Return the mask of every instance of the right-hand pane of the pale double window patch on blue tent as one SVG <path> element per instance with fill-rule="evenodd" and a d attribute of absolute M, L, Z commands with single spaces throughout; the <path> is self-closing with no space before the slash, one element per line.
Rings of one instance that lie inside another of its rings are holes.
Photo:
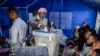
<path fill-rule="evenodd" d="M 61 29 L 71 29 L 72 12 L 61 12 Z"/>

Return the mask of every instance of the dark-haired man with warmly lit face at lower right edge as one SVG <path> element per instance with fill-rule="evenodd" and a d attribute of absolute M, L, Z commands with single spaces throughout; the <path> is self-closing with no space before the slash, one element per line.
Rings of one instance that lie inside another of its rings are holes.
<path fill-rule="evenodd" d="M 91 47 L 91 50 L 92 50 L 91 56 L 93 55 L 93 51 L 95 49 L 100 49 L 100 38 L 99 38 L 99 36 L 97 34 L 90 34 L 89 38 L 87 40 L 87 43 L 92 46 Z"/>

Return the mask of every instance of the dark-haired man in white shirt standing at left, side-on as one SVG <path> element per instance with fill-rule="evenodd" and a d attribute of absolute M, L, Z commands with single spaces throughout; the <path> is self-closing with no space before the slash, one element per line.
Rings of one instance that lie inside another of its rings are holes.
<path fill-rule="evenodd" d="M 13 21 L 9 34 L 11 37 L 12 52 L 16 52 L 21 47 L 22 39 L 26 36 L 27 24 L 18 16 L 15 7 L 8 8 L 8 16 Z"/>

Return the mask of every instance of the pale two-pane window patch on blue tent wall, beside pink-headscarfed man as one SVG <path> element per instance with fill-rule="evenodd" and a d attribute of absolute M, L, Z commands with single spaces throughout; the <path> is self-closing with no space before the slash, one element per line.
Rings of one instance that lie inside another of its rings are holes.
<path fill-rule="evenodd" d="M 71 29 L 72 12 L 50 12 L 49 21 L 54 22 L 57 28 Z"/>

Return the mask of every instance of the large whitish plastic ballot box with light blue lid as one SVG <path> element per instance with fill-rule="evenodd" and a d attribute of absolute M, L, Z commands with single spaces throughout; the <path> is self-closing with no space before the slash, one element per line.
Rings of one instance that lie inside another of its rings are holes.
<path fill-rule="evenodd" d="M 62 30 L 51 29 L 50 32 L 35 30 L 33 31 L 33 35 L 35 36 L 36 46 L 47 46 L 49 56 L 58 56 Z"/>

